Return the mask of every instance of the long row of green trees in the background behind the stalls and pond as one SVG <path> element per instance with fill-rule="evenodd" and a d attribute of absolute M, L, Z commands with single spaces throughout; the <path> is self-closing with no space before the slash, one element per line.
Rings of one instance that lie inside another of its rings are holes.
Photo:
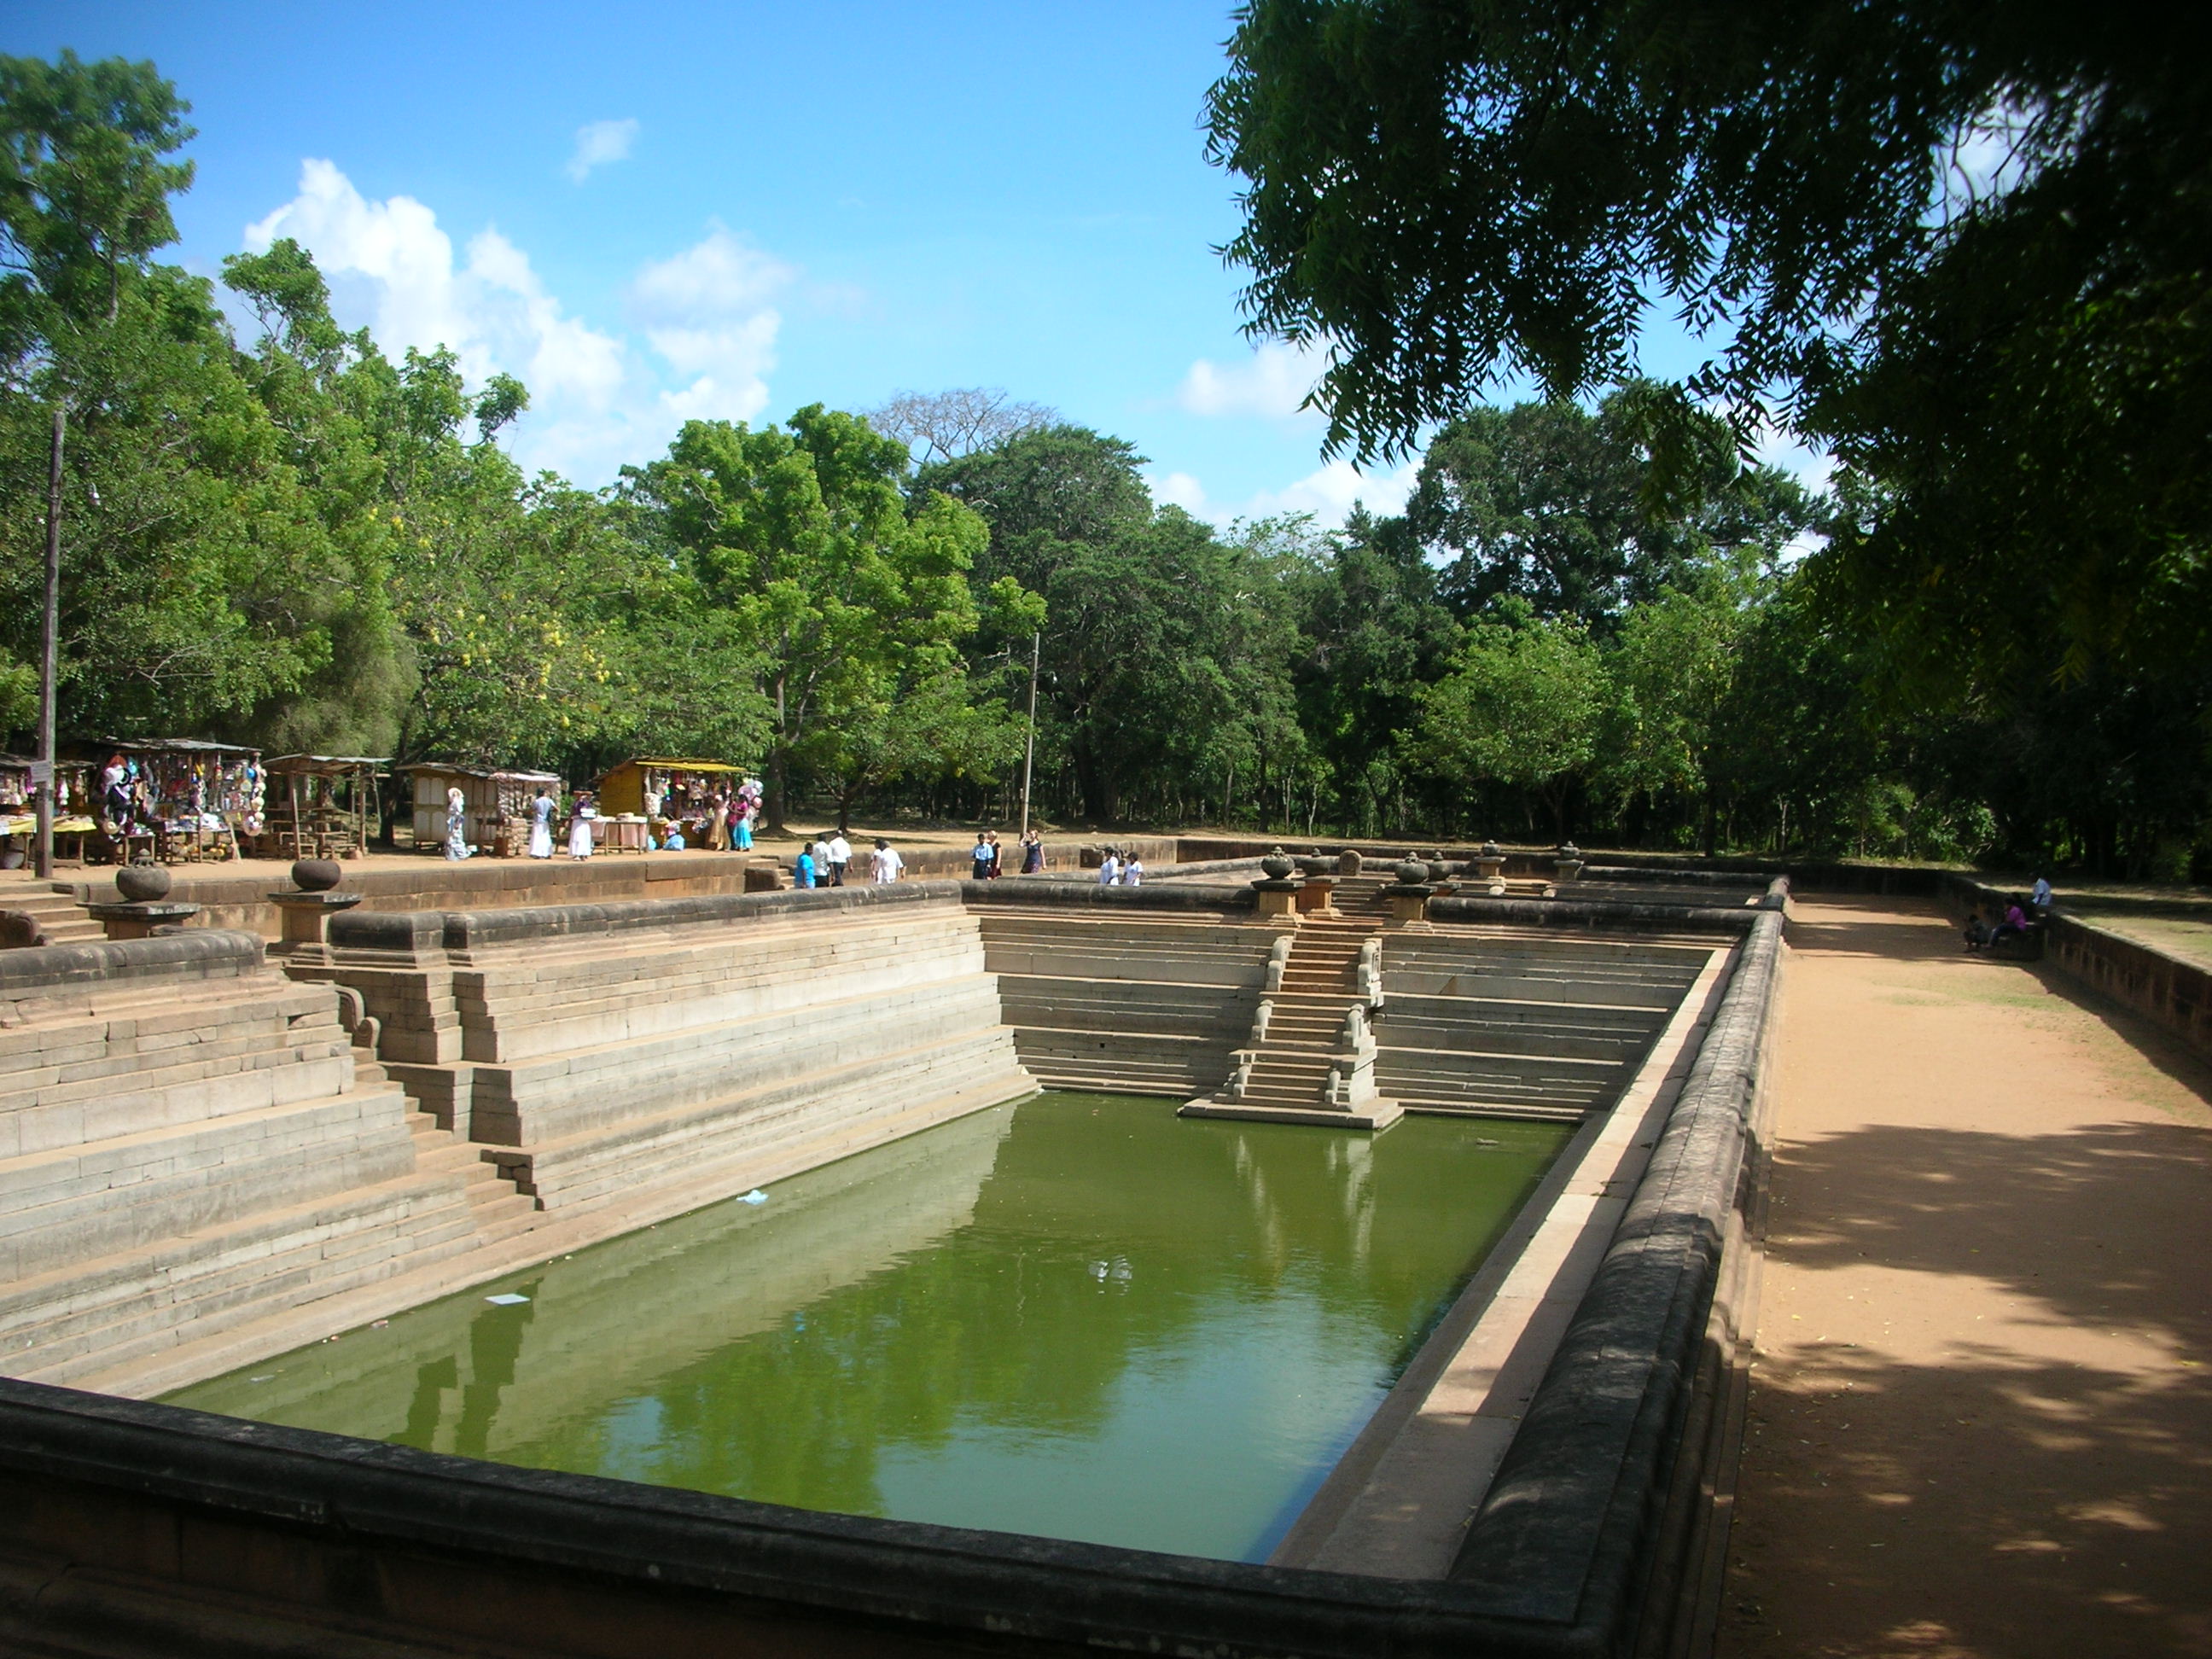
<path fill-rule="evenodd" d="M 15 750 L 60 411 L 64 734 L 571 779 L 726 757 L 761 763 L 772 818 L 1004 821 L 1035 648 L 1060 823 L 2205 854 L 2205 664 L 1900 672 L 1818 551 L 1865 504 L 1743 465 L 1668 387 L 1462 414 L 1402 515 L 1340 531 L 1210 526 L 1128 442 L 989 392 L 690 422 L 586 491 L 500 449 L 518 380 L 394 363 L 296 243 L 226 261 L 252 341 L 159 263 L 190 173 L 150 66 L 0 60 L 0 119 Z"/>

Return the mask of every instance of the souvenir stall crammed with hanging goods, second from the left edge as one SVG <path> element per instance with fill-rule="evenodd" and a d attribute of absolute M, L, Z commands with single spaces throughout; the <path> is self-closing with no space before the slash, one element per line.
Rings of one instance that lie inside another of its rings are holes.
<path fill-rule="evenodd" d="M 195 737 L 102 739 L 93 816 L 117 863 L 150 852 L 164 865 L 237 858 L 259 836 L 268 779 L 261 752 Z"/>

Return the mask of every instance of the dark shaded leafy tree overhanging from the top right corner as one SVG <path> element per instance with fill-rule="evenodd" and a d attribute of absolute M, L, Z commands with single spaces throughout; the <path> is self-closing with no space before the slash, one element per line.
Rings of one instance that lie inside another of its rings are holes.
<path fill-rule="evenodd" d="M 1254 0 L 1210 126 L 1332 447 L 1595 392 L 1668 305 L 1697 396 L 1741 434 L 1778 398 L 1856 476 L 1823 593 L 1909 701 L 2212 641 L 2192 9 Z"/>

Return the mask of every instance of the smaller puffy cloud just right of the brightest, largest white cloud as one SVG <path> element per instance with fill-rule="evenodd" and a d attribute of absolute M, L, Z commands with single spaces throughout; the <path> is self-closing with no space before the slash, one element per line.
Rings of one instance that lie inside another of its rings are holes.
<path fill-rule="evenodd" d="M 768 407 L 783 314 L 770 303 L 794 272 L 714 226 L 672 259 L 646 265 L 630 303 L 653 349 L 690 385 L 664 392 L 684 420 L 752 420 Z"/>

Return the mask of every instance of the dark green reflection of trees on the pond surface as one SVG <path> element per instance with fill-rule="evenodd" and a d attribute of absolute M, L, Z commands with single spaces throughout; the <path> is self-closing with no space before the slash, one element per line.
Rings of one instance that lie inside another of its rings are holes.
<path fill-rule="evenodd" d="M 670 1374 L 641 1467 L 568 1467 L 869 1513 L 878 1451 L 942 1449 L 967 1427 L 1095 1436 L 1133 1365 L 1281 1296 L 1316 1310 L 1334 1354 L 1394 1369 L 1559 1135 L 1469 1139 L 1420 1119 L 1354 1139 L 1033 1102 L 973 1225 Z M 1128 1279 L 1095 1274 L 1119 1261 Z"/>

